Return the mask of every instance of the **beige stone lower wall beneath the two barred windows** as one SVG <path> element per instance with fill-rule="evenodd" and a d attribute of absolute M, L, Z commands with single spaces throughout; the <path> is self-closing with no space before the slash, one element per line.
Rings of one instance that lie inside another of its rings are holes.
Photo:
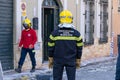
<path fill-rule="evenodd" d="M 110 39 L 108 39 L 108 43 L 104 44 L 99 44 L 98 39 L 95 39 L 94 45 L 84 47 L 82 60 L 105 57 L 109 56 L 109 54 L 110 54 Z"/>

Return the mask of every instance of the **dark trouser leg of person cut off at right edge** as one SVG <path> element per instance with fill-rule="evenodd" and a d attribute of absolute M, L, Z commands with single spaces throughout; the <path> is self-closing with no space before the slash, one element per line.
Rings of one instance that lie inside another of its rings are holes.
<path fill-rule="evenodd" d="M 117 64 L 116 64 L 116 79 L 120 80 L 120 45 L 118 46 L 118 58 L 117 58 Z"/>

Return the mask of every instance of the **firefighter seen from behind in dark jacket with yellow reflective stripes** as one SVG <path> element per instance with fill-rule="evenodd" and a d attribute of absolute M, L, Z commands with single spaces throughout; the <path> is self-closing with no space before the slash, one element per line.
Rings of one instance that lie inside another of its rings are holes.
<path fill-rule="evenodd" d="M 54 80 L 62 80 L 64 68 L 68 80 L 75 80 L 76 68 L 80 68 L 82 56 L 82 37 L 72 25 L 73 16 L 70 11 L 63 10 L 59 17 L 58 29 L 49 36 L 48 67 L 53 68 Z"/>

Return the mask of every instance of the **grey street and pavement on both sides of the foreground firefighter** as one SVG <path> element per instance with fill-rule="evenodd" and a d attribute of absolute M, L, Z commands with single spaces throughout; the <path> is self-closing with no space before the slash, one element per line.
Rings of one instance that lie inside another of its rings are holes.
<path fill-rule="evenodd" d="M 114 80 L 115 67 L 116 57 L 93 59 L 93 61 L 89 60 L 87 63 L 82 62 L 81 68 L 77 69 L 76 80 Z M 48 69 L 46 64 L 46 67 L 43 66 L 34 73 L 30 73 L 29 70 L 22 73 L 14 71 L 6 73 L 4 80 L 53 80 L 51 72 L 52 70 Z M 65 72 L 63 80 L 67 80 Z"/>

